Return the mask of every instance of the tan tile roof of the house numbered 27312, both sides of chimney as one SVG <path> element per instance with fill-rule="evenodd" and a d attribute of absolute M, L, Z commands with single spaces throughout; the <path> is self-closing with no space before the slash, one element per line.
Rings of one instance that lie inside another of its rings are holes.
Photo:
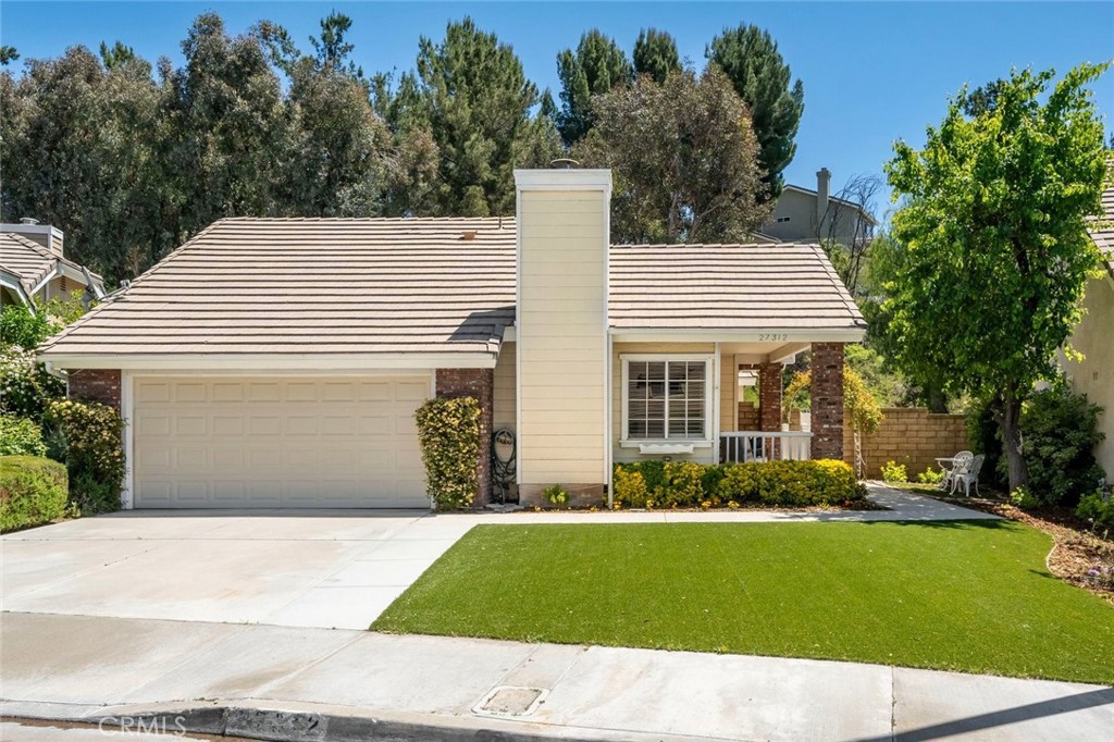
<path fill-rule="evenodd" d="M 497 353 L 515 255 L 507 217 L 222 219 L 41 352 Z M 813 245 L 615 246 L 610 282 L 615 328 L 864 326 Z"/>

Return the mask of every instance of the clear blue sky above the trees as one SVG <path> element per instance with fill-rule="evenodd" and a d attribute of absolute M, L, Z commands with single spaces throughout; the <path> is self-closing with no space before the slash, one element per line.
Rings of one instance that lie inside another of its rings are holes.
<path fill-rule="evenodd" d="M 418 38 L 441 38 L 449 20 L 470 14 L 514 46 L 526 74 L 557 96 L 557 52 L 580 33 L 603 29 L 629 50 L 638 30 L 674 35 L 701 66 L 704 47 L 724 27 L 756 23 L 778 40 L 805 110 L 786 179 L 814 185 L 821 166 L 833 187 L 853 174 L 881 174 L 892 141 L 924 140 L 947 97 L 1010 67 L 1066 70 L 1114 57 L 1114 2 L 18 2 L 0 4 L 0 41 L 23 58 L 66 47 L 120 40 L 145 58 L 180 62 L 190 21 L 216 10 L 232 32 L 266 18 L 309 47 L 331 9 L 353 18 L 355 59 L 368 72 L 413 66 Z M 1095 86 L 1114 130 L 1114 70 Z M 887 204 L 880 204 L 886 207 Z"/>

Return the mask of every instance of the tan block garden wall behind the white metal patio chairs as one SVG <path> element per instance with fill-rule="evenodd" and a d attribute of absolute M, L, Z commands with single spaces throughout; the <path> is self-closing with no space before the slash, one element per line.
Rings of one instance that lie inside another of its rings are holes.
<path fill-rule="evenodd" d="M 909 479 L 928 468 L 937 468 L 936 458 L 969 449 L 967 428 L 961 414 L 934 414 L 922 407 L 888 408 L 878 430 L 862 436 L 866 475 L 881 477 L 887 461 L 906 465 Z M 853 463 L 854 438 L 848 422 L 844 431 L 844 461 Z"/>

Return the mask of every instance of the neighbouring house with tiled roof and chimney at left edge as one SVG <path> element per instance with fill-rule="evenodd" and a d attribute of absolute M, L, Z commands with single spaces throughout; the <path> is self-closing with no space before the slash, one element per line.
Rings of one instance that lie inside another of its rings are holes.
<path fill-rule="evenodd" d="M 99 275 L 62 254 L 60 230 L 35 219 L 0 224 L 0 304 L 30 305 L 86 289 L 92 299 L 105 295 Z"/>

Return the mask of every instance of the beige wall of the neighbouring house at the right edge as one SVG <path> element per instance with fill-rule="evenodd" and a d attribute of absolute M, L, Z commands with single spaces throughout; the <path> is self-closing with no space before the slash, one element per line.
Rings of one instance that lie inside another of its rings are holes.
<path fill-rule="evenodd" d="M 1083 301 L 1087 313 L 1072 336 L 1072 348 L 1084 355 L 1083 363 L 1067 361 L 1066 371 L 1075 391 L 1103 408 L 1098 429 L 1106 439 L 1095 448 L 1098 466 L 1106 471 L 1107 481 L 1114 478 L 1114 280 L 1103 276 L 1087 283 Z"/>

